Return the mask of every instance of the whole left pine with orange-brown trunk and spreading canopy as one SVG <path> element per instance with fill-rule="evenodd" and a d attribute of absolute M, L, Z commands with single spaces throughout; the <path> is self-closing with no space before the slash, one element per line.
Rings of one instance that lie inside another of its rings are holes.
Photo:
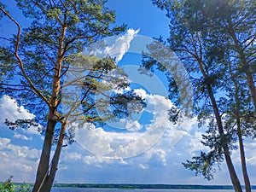
<path fill-rule="evenodd" d="M 96 41 L 125 30 L 125 25 L 113 25 L 115 14 L 105 6 L 106 0 L 16 2 L 31 25 L 22 28 L 18 18 L 9 15 L 1 4 L 1 16 L 7 16 L 17 26 L 9 44 L 0 47 L 1 73 L 10 69 L 13 73 L 9 79 L 7 75 L 0 79 L 1 94 L 19 98 L 20 104 L 37 114 L 32 120 L 7 119 L 6 124 L 10 128 L 41 128 L 44 146 L 32 191 L 45 192 L 50 191 L 54 182 L 64 140 L 73 142 L 73 132 L 67 131 L 69 125 L 104 123 L 131 113 L 128 102 L 138 110 L 144 103 L 132 90 L 108 96 L 106 91 L 128 86 L 127 76 L 113 58 L 83 52 Z"/>

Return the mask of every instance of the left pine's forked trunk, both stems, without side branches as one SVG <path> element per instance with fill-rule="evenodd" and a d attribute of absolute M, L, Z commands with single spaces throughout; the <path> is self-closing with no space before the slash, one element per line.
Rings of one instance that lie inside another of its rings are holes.
<path fill-rule="evenodd" d="M 50 149 L 52 146 L 52 138 L 54 137 L 54 131 L 55 131 L 55 124 L 59 122 L 59 115 L 57 113 L 56 108 L 60 104 L 60 100 L 58 97 L 60 96 L 60 84 L 61 84 L 61 64 L 64 57 L 64 38 L 66 34 L 67 26 L 66 23 L 64 23 L 61 26 L 61 34 L 59 38 L 59 44 L 58 44 L 58 53 L 56 57 L 55 62 L 55 73 L 53 76 L 53 84 L 52 84 L 52 93 L 51 93 L 51 99 L 50 99 L 50 108 L 49 108 L 49 126 L 47 126 L 46 134 L 44 137 L 44 147 L 40 158 L 40 163 L 38 166 L 38 173 L 36 178 L 36 183 L 34 185 L 34 188 L 32 192 L 49 192 L 52 186 L 52 183 L 54 182 L 55 178 L 55 172 L 57 170 L 58 161 L 61 154 L 61 147 L 63 143 L 63 134 L 66 128 L 66 123 L 62 127 L 61 123 L 61 134 L 59 136 L 59 142 L 57 145 L 57 148 L 55 149 L 55 154 L 53 157 L 53 160 L 51 161 L 51 164 L 49 165 L 49 155 L 50 155 Z M 64 129 L 63 129 L 64 128 Z M 50 168 L 50 171 L 49 171 Z"/>

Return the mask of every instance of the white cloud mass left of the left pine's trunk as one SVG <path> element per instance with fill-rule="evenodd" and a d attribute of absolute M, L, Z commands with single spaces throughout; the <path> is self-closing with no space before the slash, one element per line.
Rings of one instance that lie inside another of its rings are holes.
<path fill-rule="evenodd" d="M 38 129 L 10 131 L 4 122 L 5 119 L 9 121 L 33 119 L 35 115 L 23 106 L 19 106 L 14 98 L 6 95 L 0 98 L 0 113 L 0 169 L 2 172 L 0 180 L 14 175 L 16 181 L 33 181 L 40 150 L 26 145 L 31 144 L 33 137 L 30 134 L 38 134 Z"/>

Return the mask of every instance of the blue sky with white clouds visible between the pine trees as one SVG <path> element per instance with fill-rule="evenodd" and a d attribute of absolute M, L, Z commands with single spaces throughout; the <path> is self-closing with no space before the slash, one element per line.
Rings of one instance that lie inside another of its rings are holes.
<path fill-rule="evenodd" d="M 19 20 L 19 12 L 13 9 L 14 1 L 8 1 L 8 5 L 10 13 Z M 104 127 L 78 131 L 77 143 L 63 148 L 56 180 L 59 183 L 230 184 L 225 164 L 211 182 L 183 168 L 182 162 L 199 154 L 201 149 L 207 150 L 200 142 L 203 129 L 197 128 L 196 119 L 183 119 L 178 126 L 169 123 L 167 113 L 172 102 L 166 99 L 166 79 L 160 73 L 154 73 L 151 79 L 136 73 L 141 61 L 136 49 L 142 42 L 160 35 L 168 37 L 165 13 L 149 0 L 109 0 L 108 7 L 116 11 L 118 24 L 128 26 L 123 36 L 114 38 L 116 47 L 109 47 L 108 54 L 119 56 L 118 65 L 125 67 L 133 84 L 139 84 L 135 91 L 146 99 L 148 107 L 133 116 L 132 121 L 124 119 L 114 127 L 120 130 L 125 124 L 126 131 L 109 131 Z M 27 23 L 27 20 L 19 21 L 23 25 Z M 11 32 L 9 22 L 4 25 L 8 26 L 4 32 Z M 15 181 L 33 182 L 43 137 L 36 129 L 10 131 L 3 121 L 32 118 L 35 114 L 17 106 L 15 98 L 9 96 L 0 99 L 0 113 L 0 180 L 13 175 Z M 155 134 L 147 135 L 151 130 Z M 250 141 L 245 146 L 248 172 L 252 183 L 256 183 L 253 175 L 256 143 Z M 241 177 L 239 154 L 234 152 L 232 156 Z"/>

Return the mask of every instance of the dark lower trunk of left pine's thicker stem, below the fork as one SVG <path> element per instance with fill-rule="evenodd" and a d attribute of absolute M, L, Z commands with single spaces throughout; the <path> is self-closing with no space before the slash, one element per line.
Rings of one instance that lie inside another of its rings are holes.
<path fill-rule="evenodd" d="M 49 111 L 51 111 L 50 113 L 52 113 L 51 109 Z M 48 172 L 49 172 L 50 150 L 52 146 L 52 139 L 53 139 L 55 124 L 56 124 L 55 119 L 50 118 L 50 116 L 52 117 L 53 115 L 49 115 L 45 137 L 44 137 L 44 146 L 43 146 L 42 154 L 41 154 L 39 165 L 38 165 L 36 182 L 33 186 L 32 192 L 39 191 L 39 189 L 44 184 L 45 178 L 48 176 Z"/>

